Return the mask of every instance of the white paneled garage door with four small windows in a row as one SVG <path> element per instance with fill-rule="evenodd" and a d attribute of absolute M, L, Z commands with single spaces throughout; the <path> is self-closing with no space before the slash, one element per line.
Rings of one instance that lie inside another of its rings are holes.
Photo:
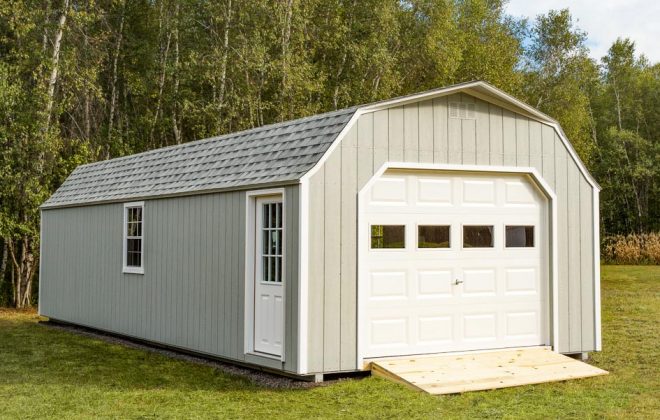
<path fill-rule="evenodd" d="M 547 200 L 526 175 L 388 171 L 365 201 L 364 357 L 549 343 Z"/>

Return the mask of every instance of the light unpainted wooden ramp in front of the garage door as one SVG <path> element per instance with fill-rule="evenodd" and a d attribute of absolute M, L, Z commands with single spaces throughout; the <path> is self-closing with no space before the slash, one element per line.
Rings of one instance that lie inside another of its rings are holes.
<path fill-rule="evenodd" d="M 429 394 L 456 394 L 607 375 L 547 347 L 371 359 L 374 375 Z"/>

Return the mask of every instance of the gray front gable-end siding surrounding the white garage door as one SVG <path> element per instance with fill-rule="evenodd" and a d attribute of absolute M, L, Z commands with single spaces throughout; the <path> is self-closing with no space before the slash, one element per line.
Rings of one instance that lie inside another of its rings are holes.
<path fill-rule="evenodd" d="M 309 372 L 358 368 L 357 194 L 385 162 L 536 168 L 557 194 L 559 351 L 595 350 L 592 185 L 552 126 L 460 93 L 362 114 L 310 177 Z"/>

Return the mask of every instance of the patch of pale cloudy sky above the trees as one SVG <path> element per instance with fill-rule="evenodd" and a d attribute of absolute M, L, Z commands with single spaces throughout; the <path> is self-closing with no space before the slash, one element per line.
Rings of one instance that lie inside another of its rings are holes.
<path fill-rule="evenodd" d="M 549 10 L 568 8 L 577 27 L 587 32 L 591 57 L 600 60 L 617 37 L 635 42 L 637 53 L 660 61 L 660 0 L 509 0 L 508 14 L 530 20 Z"/>

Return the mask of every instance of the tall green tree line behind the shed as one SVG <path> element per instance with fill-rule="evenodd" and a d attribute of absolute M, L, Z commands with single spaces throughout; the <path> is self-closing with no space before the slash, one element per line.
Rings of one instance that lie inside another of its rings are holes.
<path fill-rule="evenodd" d="M 482 79 L 557 119 L 606 233 L 657 231 L 660 67 L 502 0 L 0 3 L 0 305 L 29 306 L 39 205 L 79 164 Z"/>

